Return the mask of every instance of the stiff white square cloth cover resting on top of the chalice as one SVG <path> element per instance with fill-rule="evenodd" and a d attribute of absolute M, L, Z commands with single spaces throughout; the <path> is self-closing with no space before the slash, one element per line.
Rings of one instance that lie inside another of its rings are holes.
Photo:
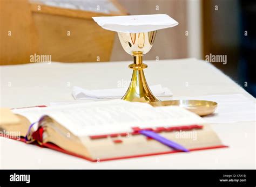
<path fill-rule="evenodd" d="M 116 32 L 149 32 L 169 28 L 179 23 L 168 15 L 134 15 L 93 17 L 98 25 Z"/>

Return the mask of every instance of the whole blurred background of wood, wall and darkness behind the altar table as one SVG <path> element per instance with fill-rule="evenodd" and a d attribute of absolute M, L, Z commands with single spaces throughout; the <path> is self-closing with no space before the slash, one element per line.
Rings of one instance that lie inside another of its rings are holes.
<path fill-rule="evenodd" d="M 226 55 L 209 62 L 256 96 L 254 0 L 0 0 L 0 64 L 131 60 L 117 33 L 91 17 L 166 13 L 179 22 L 159 30 L 145 60 Z"/>

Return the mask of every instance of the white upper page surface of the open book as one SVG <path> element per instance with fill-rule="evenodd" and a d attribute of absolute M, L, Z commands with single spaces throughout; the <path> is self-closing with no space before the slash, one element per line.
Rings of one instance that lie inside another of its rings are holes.
<path fill-rule="evenodd" d="M 154 128 L 203 124 L 203 118 L 179 106 L 153 107 L 147 103 L 106 100 L 12 110 L 31 123 L 48 115 L 77 136 L 132 132 L 132 127 Z"/>

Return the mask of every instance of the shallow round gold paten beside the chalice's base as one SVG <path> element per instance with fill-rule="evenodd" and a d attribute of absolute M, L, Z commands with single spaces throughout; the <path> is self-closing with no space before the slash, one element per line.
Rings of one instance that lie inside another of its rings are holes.
<path fill-rule="evenodd" d="M 209 100 L 165 100 L 150 104 L 152 106 L 181 106 L 199 116 L 206 116 L 213 113 L 218 105 L 216 102 Z"/>

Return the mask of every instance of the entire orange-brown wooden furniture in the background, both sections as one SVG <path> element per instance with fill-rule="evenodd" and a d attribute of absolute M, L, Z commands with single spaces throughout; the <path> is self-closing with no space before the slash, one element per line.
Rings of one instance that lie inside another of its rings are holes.
<path fill-rule="evenodd" d="M 51 61 L 59 62 L 109 61 L 116 33 L 102 29 L 92 17 L 127 14 L 116 0 L 111 1 L 119 12 L 106 14 L 28 0 L 0 0 L 0 65 L 29 63 L 34 54 L 51 55 Z"/>

